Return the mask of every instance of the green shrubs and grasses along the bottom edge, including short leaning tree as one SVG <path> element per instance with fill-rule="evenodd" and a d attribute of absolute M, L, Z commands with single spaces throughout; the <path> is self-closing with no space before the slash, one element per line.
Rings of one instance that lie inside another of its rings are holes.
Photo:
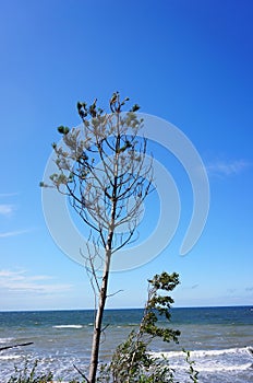
<path fill-rule="evenodd" d="M 180 332 L 166 325 L 166 322 L 170 321 L 170 307 L 173 303 L 170 291 L 178 283 L 177 272 L 169 275 L 164 271 L 148 280 L 147 302 L 138 328 L 132 330 L 116 348 L 109 363 L 99 365 L 96 383 L 180 383 L 176 378 L 177 371 L 170 367 L 168 358 L 162 355 L 154 356 L 150 347 L 155 338 L 166 343 L 171 340 L 178 343 Z M 183 351 L 189 365 L 189 382 L 197 383 L 198 372 L 194 369 L 190 352 Z M 37 373 L 37 367 L 38 361 L 31 370 L 27 364 L 21 370 L 16 368 L 8 383 L 52 382 L 52 372 Z M 73 368 L 77 370 L 82 380 L 72 380 L 69 383 L 87 383 L 85 374 L 75 365 Z"/>

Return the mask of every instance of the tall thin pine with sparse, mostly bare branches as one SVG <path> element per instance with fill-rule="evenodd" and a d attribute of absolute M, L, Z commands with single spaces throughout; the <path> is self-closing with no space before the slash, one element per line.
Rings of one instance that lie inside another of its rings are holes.
<path fill-rule="evenodd" d="M 88 383 L 95 383 L 103 314 L 108 298 L 108 280 L 113 254 L 135 239 L 142 204 L 152 190 L 153 163 L 146 161 L 147 142 L 141 137 L 143 120 L 135 112 L 123 113 L 129 98 L 119 92 L 109 101 L 110 113 L 97 106 L 77 103 L 82 126 L 60 126 L 60 144 L 52 143 L 59 172 L 50 176 L 59 193 L 89 228 L 85 265 L 95 292 L 95 323 Z M 128 230 L 122 231 L 122 227 Z M 82 254 L 84 251 L 82 249 Z"/>

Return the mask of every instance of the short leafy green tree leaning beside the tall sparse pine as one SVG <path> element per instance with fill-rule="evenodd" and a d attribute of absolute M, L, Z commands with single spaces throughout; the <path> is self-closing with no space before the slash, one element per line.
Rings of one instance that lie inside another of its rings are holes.
<path fill-rule="evenodd" d="M 173 370 L 170 369 L 168 359 L 164 356 L 152 356 L 148 346 L 157 337 L 167 343 L 178 343 L 180 332 L 160 325 L 159 320 L 170 321 L 173 299 L 169 293 L 179 283 L 179 275 L 164 271 L 155 275 L 148 283 L 147 302 L 138 329 L 130 333 L 126 340 L 116 349 L 109 365 L 103 367 L 100 382 L 174 382 Z"/>

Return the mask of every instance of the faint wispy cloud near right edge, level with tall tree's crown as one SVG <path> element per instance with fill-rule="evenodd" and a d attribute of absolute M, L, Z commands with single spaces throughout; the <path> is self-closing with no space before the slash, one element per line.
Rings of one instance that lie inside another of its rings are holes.
<path fill-rule="evenodd" d="M 237 175 L 250 166 L 252 166 L 252 163 L 245 160 L 234 160 L 234 161 L 215 161 L 209 164 L 207 163 L 205 167 L 209 175 L 230 176 L 230 175 Z"/>

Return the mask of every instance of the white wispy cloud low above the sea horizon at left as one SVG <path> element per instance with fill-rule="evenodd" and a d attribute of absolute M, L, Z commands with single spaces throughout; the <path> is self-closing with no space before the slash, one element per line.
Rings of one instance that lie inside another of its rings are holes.
<path fill-rule="evenodd" d="M 0 270 L 0 288 L 7 293 L 53 294 L 71 290 L 71 285 L 47 282 L 52 279 L 45 275 L 27 276 L 25 270 Z"/>

